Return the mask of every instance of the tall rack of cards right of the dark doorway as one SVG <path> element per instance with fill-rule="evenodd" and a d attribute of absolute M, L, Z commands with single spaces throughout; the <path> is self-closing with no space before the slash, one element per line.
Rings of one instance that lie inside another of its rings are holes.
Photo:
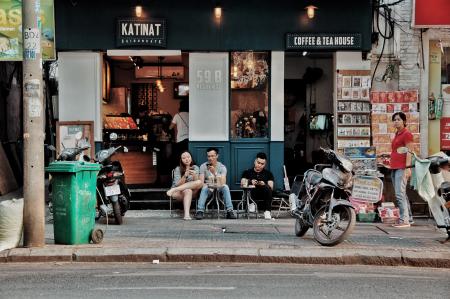
<path fill-rule="evenodd" d="M 336 82 L 336 145 L 370 146 L 370 71 L 339 70 Z"/>

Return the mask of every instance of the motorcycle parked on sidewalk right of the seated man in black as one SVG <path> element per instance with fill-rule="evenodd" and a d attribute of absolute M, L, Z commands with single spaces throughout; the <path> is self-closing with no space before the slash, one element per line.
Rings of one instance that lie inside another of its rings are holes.
<path fill-rule="evenodd" d="M 318 171 L 318 164 L 307 170 L 298 195 L 290 196 L 289 202 L 296 218 L 295 234 L 298 237 L 313 228 L 314 239 L 319 244 L 334 246 L 351 234 L 356 222 L 354 208 L 349 202 L 353 165 L 331 149 L 320 149 L 331 167 Z"/>

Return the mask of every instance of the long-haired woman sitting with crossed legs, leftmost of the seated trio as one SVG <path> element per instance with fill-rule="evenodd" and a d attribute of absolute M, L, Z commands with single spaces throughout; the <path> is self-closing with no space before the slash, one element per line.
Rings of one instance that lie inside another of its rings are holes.
<path fill-rule="evenodd" d="M 167 195 L 183 200 L 184 220 L 191 220 L 189 210 L 192 197 L 197 196 L 203 187 L 203 183 L 198 179 L 199 174 L 200 168 L 195 165 L 191 153 L 183 151 L 180 156 L 180 165 L 174 170 L 172 188 L 167 191 Z"/>

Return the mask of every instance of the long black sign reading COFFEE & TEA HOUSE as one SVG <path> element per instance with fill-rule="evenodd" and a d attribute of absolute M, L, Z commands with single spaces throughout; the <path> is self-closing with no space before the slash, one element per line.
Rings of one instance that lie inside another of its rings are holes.
<path fill-rule="evenodd" d="M 288 33 L 287 50 L 360 50 L 360 33 Z"/>

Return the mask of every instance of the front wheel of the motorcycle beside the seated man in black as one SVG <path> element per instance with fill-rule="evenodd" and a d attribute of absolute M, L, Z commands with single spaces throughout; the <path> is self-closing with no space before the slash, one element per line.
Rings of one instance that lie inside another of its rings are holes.
<path fill-rule="evenodd" d="M 323 246 L 335 246 L 343 242 L 355 227 L 356 215 L 352 208 L 338 206 L 332 213 L 331 223 L 326 221 L 328 207 L 321 208 L 314 217 L 314 238 Z"/>

